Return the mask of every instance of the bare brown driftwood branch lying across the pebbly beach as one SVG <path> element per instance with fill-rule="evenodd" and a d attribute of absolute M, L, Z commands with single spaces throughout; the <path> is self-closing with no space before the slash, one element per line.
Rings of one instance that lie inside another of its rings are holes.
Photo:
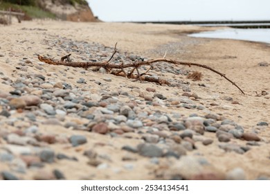
<path fill-rule="evenodd" d="M 116 43 L 116 45 L 117 45 L 117 43 Z M 242 92 L 242 94 L 244 94 L 244 91 L 242 91 L 242 89 L 240 89 L 240 87 L 238 87 L 235 84 L 235 82 L 233 82 L 232 80 L 227 78 L 224 73 L 220 73 L 219 71 L 217 71 L 211 67 L 208 67 L 204 64 L 198 64 L 198 63 L 193 63 L 193 62 L 179 62 L 177 60 L 170 60 L 170 59 L 165 59 L 165 58 L 157 58 L 157 59 L 152 59 L 152 60 L 147 60 L 147 61 L 137 61 L 137 62 L 131 62 L 131 63 L 127 63 L 127 64 L 110 63 L 111 59 L 114 58 L 114 55 L 118 52 L 116 49 L 116 45 L 114 46 L 114 53 L 111 55 L 111 58 L 107 61 L 104 61 L 104 62 L 70 62 L 71 60 L 69 59 L 69 56 L 71 54 L 64 56 L 63 58 L 61 58 L 60 61 L 57 61 L 57 62 L 52 60 L 52 59 L 44 58 L 41 55 L 38 55 L 38 59 L 42 62 L 47 63 L 47 64 L 64 65 L 64 66 L 69 66 L 69 67 L 81 67 L 84 69 L 87 69 L 89 67 L 104 67 L 105 69 L 120 69 L 120 71 L 111 71 L 111 73 L 116 75 L 116 76 L 125 76 L 126 78 L 132 78 L 132 79 L 136 79 L 136 80 L 140 80 L 140 81 L 145 80 L 148 82 L 156 82 L 156 83 L 159 83 L 160 85 L 161 84 L 170 85 L 170 82 L 168 82 L 167 80 L 153 78 L 151 76 L 146 75 L 146 73 L 148 71 L 150 71 L 150 69 L 152 69 L 154 63 L 167 62 L 170 64 L 186 65 L 188 67 L 197 66 L 197 67 L 208 69 L 210 71 L 217 73 L 219 76 L 222 76 L 223 78 L 225 78 L 226 80 L 231 82 L 231 84 L 233 84 L 235 87 L 237 87 L 237 89 L 239 89 Z M 66 60 L 67 62 L 65 62 L 64 60 Z M 142 66 L 150 66 L 150 68 L 147 69 L 147 71 L 145 73 L 139 73 L 138 67 L 142 67 Z M 129 67 L 133 68 L 132 71 L 125 73 L 124 69 L 129 68 Z M 137 71 L 138 75 L 133 74 L 134 70 Z"/>

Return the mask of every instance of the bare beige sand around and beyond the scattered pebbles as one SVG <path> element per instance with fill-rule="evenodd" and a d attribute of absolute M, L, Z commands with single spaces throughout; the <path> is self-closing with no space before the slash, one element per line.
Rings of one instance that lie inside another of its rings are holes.
<path fill-rule="evenodd" d="M 39 30 L 21 30 L 23 28 L 35 28 Z M 48 49 L 48 46 L 43 44 L 46 35 L 55 35 L 55 39 L 57 39 L 57 36 L 61 36 L 79 41 L 99 42 L 111 47 L 118 42 L 118 49 L 120 51 L 132 52 L 136 55 L 146 56 L 147 58 L 161 58 L 166 52 L 166 58 L 206 64 L 221 71 L 228 78 L 236 82 L 242 88 L 245 95 L 242 95 L 236 87 L 224 80 L 224 78 L 207 69 L 185 67 L 186 69 L 203 73 L 203 78 L 199 82 L 187 80 L 183 76 L 178 78 L 191 82 L 192 92 L 195 92 L 200 97 L 199 103 L 207 107 L 205 112 L 198 112 L 198 114 L 206 114 L 208 112 L 222 114 L 226 118 L 231 118 L 233 121 L 242 125 L 246 132 L 253 132 L 259 121 L 270 123 L 270 96 L 256 95 L 255 93 L 261 94 L 262 91 L 270 93 L 270 65 L 268 67 L 258 65 L 260 62 L 270 62 L 270 46 L 269 44 L 240 40 L 204 39 L 187 36 L 191 32 L 215 29 L 165 24 L 23 21 L 21 24 L 14 23 L 11 26 L 0 26 L 0 53 L 4 53 L 5 55 L 4 58 L 0 58 L 1 72 L 12 78 L 12 80 L 18 77 L 14 67 L 15 65 L 10 66 L 10 64 L 6 64 L 5 62 L 8 55 L 15 55 L 15 57 L 8 59 L 14 64 L 17 64 L 19 59 L 23 57 L 30 58 L 33 64 L 35 64 L 38 60 L 33 55 L 34 53 L 42 55 L 50 54 L 53 56 L 65 55 L 66 53 L 56 51 L 54 48 Z M 24 42 L 24 44 L 19 44 L 19 42 Z M 51 67 L 48 65 L 44 68 L 48 72 L 51 72 L 56 71 L 56 69 L 58 70 L 58 68 L 62 69 L 63 67 Z M 33 69 L 32 71 L 39 72 L 37 69 Z M 94 79 L 98 79 L 95 73 L 92 74 Z M 73 77 L 76 77 L 76 75 L 73 75 Z M 124 79 L 111 75 L 109 77 L 112 79 L 112 89 L 117 88 L 116 85 L 123 82 Z M 165 73 L 166 77 L 169 78 L 170 74 Z M 59 78 L 59 80 L 64 79 L 66 78 Z M 75 80 L 71 80 L 71 82 L 75 83 Z M 198 83 L 204 83 L 206 87 L 199 87 Z M 166 90 L 168 89 L 167 86 L 158 86 L 152 83 L 140 84 L 139 82 L 130 82 L 130 86 L 142 88 L 154 87 L 161 94 L 166 94 L 169 97 L 173 97 L 175 92 L 181 94 L 181 91 L 177 91 L 177 88 Z M 11 87 L 9 88 L 7 85 L 0 84 L 0 87 L 2 90 L 11 90 Z M 233 98 L 233 101 L 237 103 L 232 104 L 232 101 L 226 100 L 227 97 Z M 156 109 L 161 109 L 163 112 L 179 111 L 175 107 L 157 107 Z M 192 109 L 181 109 L 180 111 L 181 114 L 186 116 L 196 112 L 196 110 Z M 55 133 L 65 132 L 64 128 L 52 128 L 50 130 Z M 72 133 L 70 131 L 70 134 Z M 84 134 L 84 132 L 79 133 Z M 107 142 L 109 140 L 107 136 L 100 134 L 87 135 L 92 140 L 89 145 L 94 145 L 98 142 Z M 246 179 L 256 179 L 260 176 L 270 177 L 270 127 L 260 130 L 258 135 L 262 139 L 262 145 L 258 147 L 253 146 L 252 150 L 249 150 L 244 155 L 239 155 L 235 152 L 224 152 L 217 148 L 217 146 L 206 147 L 202 144 L 198 144 L 197 146 L 200 152 L 203 153 L 202 155 L 211 164 L 215 164 L 215 167 L 222 170 L 222 172 L 228 172 L 228 170 L 233 168 L 241 167 L 246 173 Z M 214 135 L 208 133 L 205 136 L 213 138 Z M 120 148 L 125 141 L 130 143 L 130 140 L 114 139 L 110 142 L 111 147 L 105 146 L 105 148 L 101 147 L 98 149 L 100 152 L 112 152 L 114 147 Z M 134 145 L 139 142 L 137 139 L 133 141 Z M 217 143 L 217 139 L 215 139 L 213 144 L 215 145 Z M 55 150 L 62 149 L 61 145 L 53 145 L 53 148 Z M 68 148 L 66 152 L 82 157 L 80 150 Z M 192 152 L 188 152 L 188 154 L 192 155 Z M 123 161 L 120 159 L 123 153 L 116 150 L 111 155 L 112 160 L 118 162 L 119 166 L 123 164 Z M 67 161 L 68 165 L 61 167 L 61 170 L 64 171 L 69 179 L 78 179 L 79 177 L 80 179 L 91 179 L 89 174 L 83 175 L 84 169 L 87 168 L 87 164 L 84 164 L 86 163 L 86 159 L 82 157 L 80 161 L 82 163 L 80 166 Z M 108 170 L 108 172 L 103 174 L 98 173 L 98 170 L 93 170 L 91 173 L 98 174 L 98 176 L 93 177 L 94 179 L 154 179 L 153 175 L 149 173 L 153 167 L 146 164 L 147 159 L 137 157 L 136 170 L 132 173 L 129 173 L 128 170 L 124 170 L 122 173 L 114 173 Z M 59 164 L 52 164 L 51 166 L 57 165 L 59 166 Z M 46 168 L 54 168 L 51 166 L 46 166 Z"/>

